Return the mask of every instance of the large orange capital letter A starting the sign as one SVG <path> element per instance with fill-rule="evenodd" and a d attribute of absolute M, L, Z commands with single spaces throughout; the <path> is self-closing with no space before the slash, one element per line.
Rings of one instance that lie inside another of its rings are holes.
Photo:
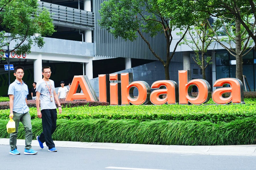
<path fill-rule="evenodd" d="M 76 93 L 78 85 L 80 85 L 83 93 Z M 73 100 L 98 101 L 98 97 L 87 76 L 74 76 L 66 98 L 66 101 Z"/>

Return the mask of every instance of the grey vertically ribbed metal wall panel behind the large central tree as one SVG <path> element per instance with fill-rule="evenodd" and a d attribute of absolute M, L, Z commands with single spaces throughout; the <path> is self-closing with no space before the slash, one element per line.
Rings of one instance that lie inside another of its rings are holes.
<path fill-rule="evenodd" d="M 100 4 L 103 0 L 93 1 L 94 11 L 100 10 Z M 100 16 L 95 15 L 95 20 L 100 20 Z M 157 35 L 154 38 L 146 36 L 150 45 L 162 59 L 166 60 L 166 40 L 164 35 Z M 94 29 L 94 49 L 95 56 L 110 56 L 136 59 L 156 60 L 156 57 L 148 49 L 146 42 L 139 36 L 136 41 L 125 41 L 120 37 L 115 39 L 106 29 L 100 29 L 98 22 L 95 23 Z"/>

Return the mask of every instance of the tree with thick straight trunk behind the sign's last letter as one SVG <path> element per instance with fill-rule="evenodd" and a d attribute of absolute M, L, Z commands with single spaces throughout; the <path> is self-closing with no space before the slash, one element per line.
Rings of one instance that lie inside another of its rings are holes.
<path fill-rule="evenodd" d="M 243 56 L 248 54 L 254 46 L 250 41 L 250 36 L 246 29 L 241 25 L 240 20 L 236 15 L 230 14 L 229 12 L 221 12 L 212 14 L 217 16 L 215 25 L 222 26 L 225 36 L 219 35 L 219 32 L 214 31 L 213 39 L 216 40 L 223 48 L 225 48 L 232 56 L 236 58 L 236 78 L 243 82 Z M 215 10 L 216 11 L 216 10 Z M 242 10 L 240 11 L 240 13 Z M 217 14 L 217 15 L 216 15 Z M 241 14 L 242 16 L 242 14 Z M 248 15 L 243 15 L 244 20 L 251 20 Z M 211 27 L 210 23 L 208 25 Z M 212 28 L 212 27 L 211 27 Z M 213 30 L 214 28 L 212 28 Z M 225 44 L 226 43 L 226 44 Z"/>

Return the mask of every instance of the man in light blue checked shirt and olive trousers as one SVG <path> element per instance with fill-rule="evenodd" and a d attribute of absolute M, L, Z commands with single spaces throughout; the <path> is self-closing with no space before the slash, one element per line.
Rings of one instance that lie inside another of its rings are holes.
<path fill-rule="evenodd" d="M 17 150 L 17 135 L 19 123 L 22 122 L 25 131 L 25 150 L 24 154 L 34 155 L 37 154 L 35 150 L 32 149 L 32 125 L 31 117 L 28 108 L 28 86 L 23 82 L 22 78 L 24 76 L 24 68 L 22 66 L 16 66 L 14 68 L 14 76 L 16 80 L 10 84 L 8 89 L 8 95 L 10 98 L 10 114 L 9 117 L 13 118 L 15 121 L 16 131 L 10 134 L 10 154 L 20 155 Z"/>

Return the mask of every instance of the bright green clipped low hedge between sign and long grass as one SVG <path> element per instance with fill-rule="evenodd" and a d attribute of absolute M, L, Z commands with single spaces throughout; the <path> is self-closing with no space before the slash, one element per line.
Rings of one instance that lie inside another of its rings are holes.
<path fill-rule="evenodd" d="M 213 123 L 256 117 L 255 105 L 148 105 L 96 106 L 63 108 L 58 119 L 89 118 L 145 120 L 208 120 Z M 36 108 L 30 108 L 31 119 L 37 119 Z M 9 119 L 9 109 L 0 110 L 0 119 Z"/>

